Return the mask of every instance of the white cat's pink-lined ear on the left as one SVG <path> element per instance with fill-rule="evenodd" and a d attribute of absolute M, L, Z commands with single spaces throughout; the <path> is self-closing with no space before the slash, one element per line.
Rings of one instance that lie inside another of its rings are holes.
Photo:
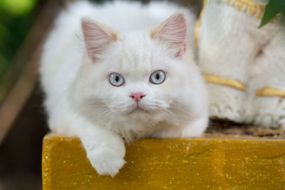
<path fill-rule="evenodd" d="M 93 63 L 111 42 L 117 40 L 117 33 L 92 19 L 81 19 L 81 28 L 88 57 Z"/>

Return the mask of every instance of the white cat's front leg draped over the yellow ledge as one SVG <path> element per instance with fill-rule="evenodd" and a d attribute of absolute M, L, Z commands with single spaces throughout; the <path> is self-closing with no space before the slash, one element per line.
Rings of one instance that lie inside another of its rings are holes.
<path fill-rule="evenodd" d="M 115 176 L 125 164 L 125 144 L 118 134 L 93 125 L 72 112 L 64 111 L 51 117 L 49 124 L 55 132 L 81 139 L 90 164 L 98 174 Z"/>

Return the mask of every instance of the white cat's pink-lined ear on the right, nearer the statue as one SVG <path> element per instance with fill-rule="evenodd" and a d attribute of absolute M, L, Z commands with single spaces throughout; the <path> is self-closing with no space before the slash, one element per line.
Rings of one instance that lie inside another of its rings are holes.
<path fill-rule="evenodd" d="M 182 56 L 187 48 L 187 19 L 184 11 L 170 16 L 158 28 L 153 29 L 150 35 L 153 39 L 166 43 L 174 57 Z"/>

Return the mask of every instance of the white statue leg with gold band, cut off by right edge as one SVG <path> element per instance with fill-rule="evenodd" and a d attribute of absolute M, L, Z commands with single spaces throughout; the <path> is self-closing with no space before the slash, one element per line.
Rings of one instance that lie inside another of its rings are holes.
<path fill-rule="evenodd" d="M 273 31 L 271 26 L 274 24 L 268 24 Z M 254 125 L 285 127 L 285 29 L 280 28 L 270 36 L 271 40 L 260 47 L 249 69 L 249 104 L 253 106 Z"/>

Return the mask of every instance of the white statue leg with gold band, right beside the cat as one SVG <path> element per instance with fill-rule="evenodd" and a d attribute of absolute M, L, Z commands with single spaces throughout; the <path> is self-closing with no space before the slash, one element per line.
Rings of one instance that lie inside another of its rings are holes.
<path fill-rule="evenodd" d="M 249 18 L 250 19 L 250 18 Z M 199 32 L 199 66 L 209 90 L 209 116 L 243 122 L 252 37 L 243 12 L 217 1 L 204 9 Z"/>

